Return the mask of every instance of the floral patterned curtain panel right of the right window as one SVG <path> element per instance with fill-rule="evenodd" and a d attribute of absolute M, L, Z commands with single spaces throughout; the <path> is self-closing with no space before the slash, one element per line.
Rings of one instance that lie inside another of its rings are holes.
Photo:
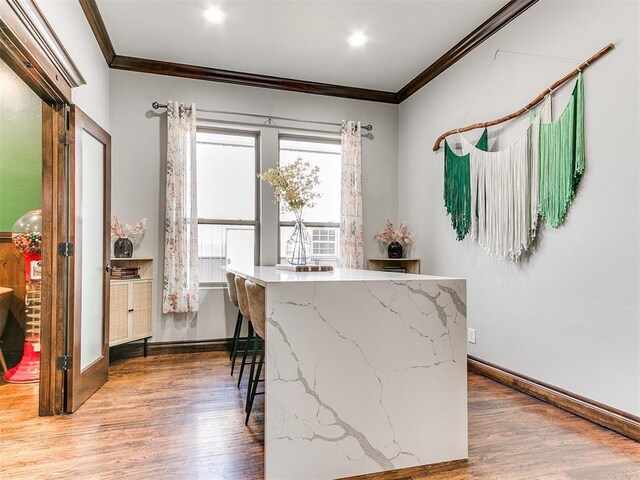
<path fill-rule="evenodd" d="M 360 122 L 342 121 L 342 201 L 340 267 L 362 268 L 362 136 Z"/>

